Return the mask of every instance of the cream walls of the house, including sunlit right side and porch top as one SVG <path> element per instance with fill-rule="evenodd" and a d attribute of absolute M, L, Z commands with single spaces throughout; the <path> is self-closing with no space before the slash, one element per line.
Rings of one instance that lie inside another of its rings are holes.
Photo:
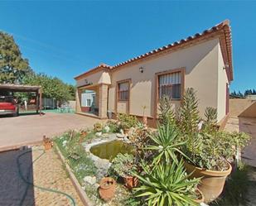
<path fill-rule="evenodd" d="M 185 89 L 196 89 L 200 100 L 200 115 L 203 117 L 206 107 L 217 108 L 218 121 L 225 117 L 225 92 L 228 82 L 218 38 L 200 42 L 182 50 L 176 50 L 166 55 L 157 55 L 138 63 L 132 63 L 114 70 L 110 75 L 99 71 L 89 74 L 86 78 L 77 80 L 77 85 L 85 84 L 85 79 L 94 85 L 109 84 L 109 110 L 115 111 L 116 82 L 131 79 L 130 114 L 142 116 L 142 106 L 146 106 L 147 117 L 154 117 L 155 110 L 155 74 L 158 72 L 185 68 Z M 143 73 L 139 68 L 143 67 Z M 111 84 L 110 84 L 111 81 Z M 173 102 L 173 108 L 179 108 L 180 102 Z M 127 110 L 128 105 L 120 102 L 118 112 Z"/>

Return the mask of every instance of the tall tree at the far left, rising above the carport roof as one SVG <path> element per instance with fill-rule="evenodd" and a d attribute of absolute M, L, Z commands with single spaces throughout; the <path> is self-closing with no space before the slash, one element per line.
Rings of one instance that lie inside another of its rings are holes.
<path fill-rule="evenodd" d="M 0 31 L 0 84 L 22 84 L 22 79 L 31 73 L 28 60 L 12 36 Z"/>

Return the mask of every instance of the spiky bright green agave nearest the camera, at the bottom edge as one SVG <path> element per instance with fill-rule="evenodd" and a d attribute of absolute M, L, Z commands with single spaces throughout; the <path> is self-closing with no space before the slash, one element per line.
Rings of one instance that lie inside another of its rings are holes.
<path fill-rule="evenodd" d="M 196 185 L 200 179 L 188 179 L 183 162 L 171 165 L 158 164 L 151 168 L 142 164 L 142 174 L 137 175 L 140 186 L 135 188 L 137 197 L 144 197 L 148 206 L 188 206 L 198 205 L 196 199 Z"/>

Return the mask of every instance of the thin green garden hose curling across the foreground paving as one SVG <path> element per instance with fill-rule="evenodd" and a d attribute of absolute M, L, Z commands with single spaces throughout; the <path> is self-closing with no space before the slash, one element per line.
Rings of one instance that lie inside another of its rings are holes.
<path fill-rule="evenodd" d="M 34 151 L 35 151 L 35 150 L 34 150 Z M 29 175 L 30 175 L 31 166 L 34 164 L 34 162 L 36 162 L 36 160 L 38 160 L 41 156 L 43 156 L 43 155 L 46 153 L 46 152 L 45 152 L 44 150 L 42 150 L 42 149 L 38 149 L 38 150 L 36 150 L 36 151 L 42 151 L 42 153 L 41 153 L 40 156 L 36 157 L 36 159 L 31 162 L 31 165 L 29 166 L 29 172 L 28 172 L 28 174 L 27 174 L 27 179 L 28 179 L 28 177 L 29 177 Z M 23 152 L 21 155 L 17 156 L 18 174 L 20 175 L 20 177 L 22 178 L 22 180 L 27 184 L 27 189 L 28 189 L 28 187 L 31 185 L 31 186 L 33 186 L 33 187 L 35 187 L 35 188 L 37 188 L 37 189 L 41 189 L 41 190 L 43 190 L 43 191 L 47 191 L 47 192 L 51 192 L 51 193 L 56 193 L 56 194 L 65 195 L 68 199 L 70 199 L 71 204 L 72 204 L 73 206 L 75 206 L 75 199 L 73 199 L 73 198 L 70 196 L 70 194 L 66 194 L 66 193 L 61 192 L 61 191 L 56 190 L 56 189 L 49 189 L 49 188 L 44 188 L 44 187 L 35 185 L 35 184 L 31 183 L 29 180 L 27 180 L 27 179 L 23 176 L 22 170 L 21 170 L 20 158 L 21 158 L 22 156 L 26 155 L 26 154 L 29 153 L 29 152 L 31 152 L 31 150 L 30 150 L 30 151 L 25 151 L 25 152 Z M 21 201 L 21 204 L 20 204 L 21 206 L 22 206 L 22 204 L 23 204 L 24 199 L 26 198 L 27 189 L 26 189 L 26 191 L 25 191 L 25 194 L 24 194 L 23 197 L 22 197 L 22 201 Z"/>

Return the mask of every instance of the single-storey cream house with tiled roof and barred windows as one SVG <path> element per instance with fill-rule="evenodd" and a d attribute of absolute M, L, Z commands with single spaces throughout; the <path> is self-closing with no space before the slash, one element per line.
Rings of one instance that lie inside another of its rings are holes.
<path fill-rule="evenodd" d="M 75 80 L 77 113 L 83 113 L 81 97 L 89 89 L 95 92 L 97 117 L 106 118 L 107 111 L 114 117 L 129 113 L 140 118 L 144 113 L 154 125 L 163 94 L 171 97 L 176 110 L 184 90 L 194 88 L 200 99 L 200 115 L 206 107 L 217 108 L 218 122 L 225 122 L 233 80 L 229 21 L 118 65 L 101 64 Z"/>

